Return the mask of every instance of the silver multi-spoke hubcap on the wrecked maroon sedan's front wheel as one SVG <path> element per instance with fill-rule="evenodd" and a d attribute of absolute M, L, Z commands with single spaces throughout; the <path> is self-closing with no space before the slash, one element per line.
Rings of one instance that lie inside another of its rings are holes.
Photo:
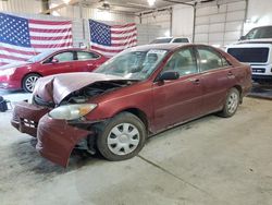
<path fill-rule="evenodd" d="M 107 138 L 109 149 L 115 155 L 128 155 L 139 144 L 139 131 L 131 123 L 115 125 Z"/>

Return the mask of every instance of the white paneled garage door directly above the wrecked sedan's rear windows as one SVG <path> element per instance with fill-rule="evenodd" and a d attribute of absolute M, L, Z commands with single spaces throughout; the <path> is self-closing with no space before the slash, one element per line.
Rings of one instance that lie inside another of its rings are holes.
<path fill-rule="evenodd" d="M 196 11 L 195 41 L 224 46 L 242 35 L 246 1 L 200 5 Z"/>

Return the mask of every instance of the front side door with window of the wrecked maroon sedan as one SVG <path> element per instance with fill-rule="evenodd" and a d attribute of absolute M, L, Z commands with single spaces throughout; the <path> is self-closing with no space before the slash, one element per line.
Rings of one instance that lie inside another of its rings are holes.
<path fill-rule="evenodd" d="M 156 130 L 199 116 L 202 106 L 202 83 L 191 47 L 173 53 L 162 72 L 176 71 L 178 80 L 153 83 L 153 110 Z"/>

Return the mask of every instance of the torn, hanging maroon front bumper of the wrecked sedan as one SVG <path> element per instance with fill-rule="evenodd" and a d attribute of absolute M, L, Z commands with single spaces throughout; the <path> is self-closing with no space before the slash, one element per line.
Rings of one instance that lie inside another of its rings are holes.
<path fill-rule="evenodd" d="M 75 145 L 94 133 L 72 126 L 66 120 L 54 120 L 48 116 L 49 111 L 22 101 L 16 104 L 11 123 L 20 132 L 37 136 L 36 149 L 41 156 L 66 167 Z"/>

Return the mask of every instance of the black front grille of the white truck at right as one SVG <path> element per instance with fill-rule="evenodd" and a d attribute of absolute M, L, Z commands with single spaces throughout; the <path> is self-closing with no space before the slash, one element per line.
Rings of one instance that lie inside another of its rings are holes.
<path fill-rule="evenodd" d="M 228 48 L 227 52 L 240 62 L 264 63 L 269 57 L 269 48 Z"/>

